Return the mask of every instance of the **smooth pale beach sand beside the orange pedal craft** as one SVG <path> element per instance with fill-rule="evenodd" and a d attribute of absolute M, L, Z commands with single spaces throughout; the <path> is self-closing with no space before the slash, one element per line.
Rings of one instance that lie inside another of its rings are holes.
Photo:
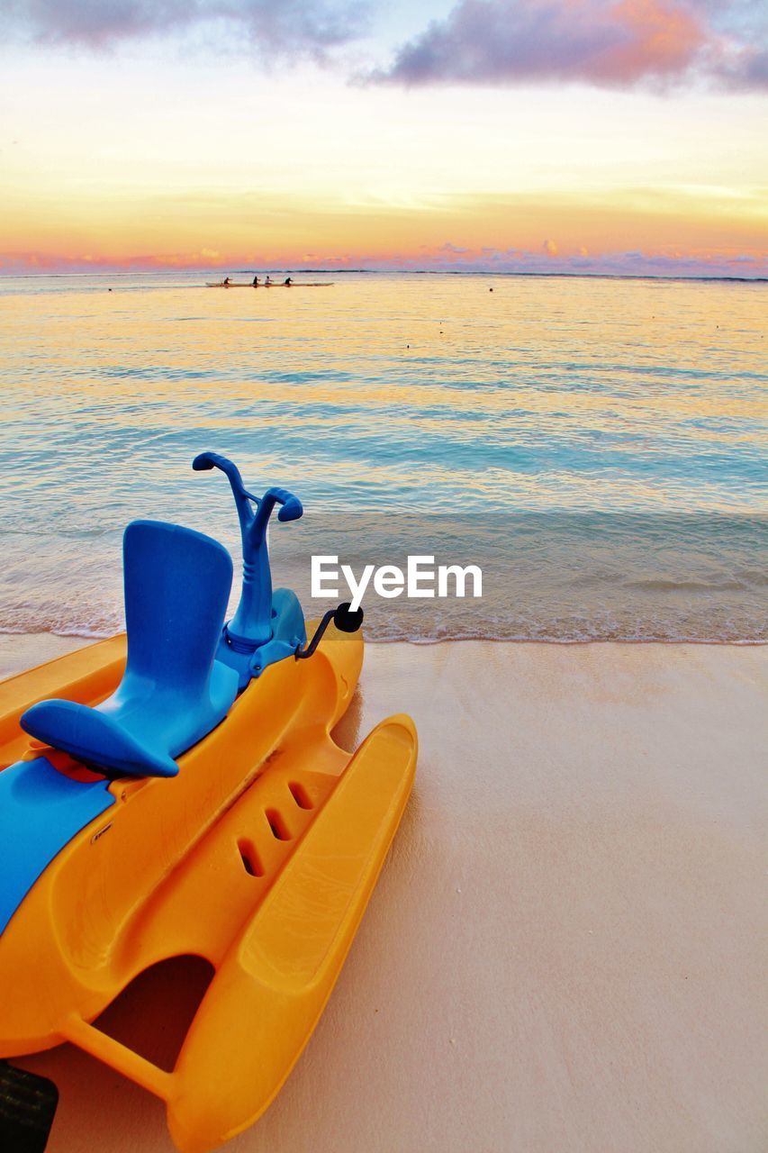
<path fill-rule="evenodd" d="M 0 638 L 0 670 L 36 643 Z M 338 737 L 412 713 L 415 792 L 315 1035 L 227 1148 L 766 1148 L 767 688 L 759 647 L 369 646 Z M 23 1064 L 61 1090 L 50 1153 L 172 1148 L 83 1054 Z"/>

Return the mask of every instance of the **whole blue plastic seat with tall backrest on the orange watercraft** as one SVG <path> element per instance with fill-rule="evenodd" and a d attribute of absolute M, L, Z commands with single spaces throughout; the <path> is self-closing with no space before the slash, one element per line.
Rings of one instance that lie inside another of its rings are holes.
<path fill-rule="evenodd" d="M 86 764 L 172 777 L 175 758 L 224 719 L 238 675 L 214 661 L 232 587 L 232 558 L 210 536 L 136 520 L 123 536 L 128 663 L 96 708 L 40 701 L 22 729 Z"/>

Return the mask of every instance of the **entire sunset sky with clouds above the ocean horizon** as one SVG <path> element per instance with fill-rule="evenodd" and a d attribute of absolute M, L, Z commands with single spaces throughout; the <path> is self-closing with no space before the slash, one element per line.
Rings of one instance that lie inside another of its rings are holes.
<path fill-rule="evenodd" d="M 0 271 L 768 276 L 762 0 L 10 0 Z"/>

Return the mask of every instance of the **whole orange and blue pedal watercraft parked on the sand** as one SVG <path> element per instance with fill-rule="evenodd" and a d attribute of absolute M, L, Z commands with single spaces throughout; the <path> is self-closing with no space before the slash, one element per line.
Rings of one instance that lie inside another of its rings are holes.
<path fill-rule="evenodd" d="M 182 1153 L 212 1150 L 276 1095 L 339 975 L 413 783 L 416 733 L 383 721 L 349 754 L 331 729 L 362 664 L 362 613 L 307 643 L 272 590 L 266 525 L 302 514 L 229 478 L 243 588 L 224 624 L 228 552 L 135 521 L 127 636 L 0 685 L 0 1146 L 39 1153 L 55 1108 L 8 1058 L 80 1046 L 167 1105 Z M 212 980 L 172 1071 L 93 1022 L 140 973 L 202 957 Z"/>

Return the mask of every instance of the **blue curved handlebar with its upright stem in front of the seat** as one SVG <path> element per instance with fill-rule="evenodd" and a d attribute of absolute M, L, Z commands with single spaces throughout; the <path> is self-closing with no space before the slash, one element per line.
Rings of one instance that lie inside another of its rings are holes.
<path fill-rule="evenodd" d="M 205 472 L 219 468 L 227 476 L 238 508 L 242 540 L 242 593 L 238 611 L 227 625 L 229 638 L 247 647 L 264 645 L 272 636 L 272 574 L 266 548 L 266 526 L 272 510 L 280 505 L 278 520 L 299 520 L 301 500 L 287 489 L 268 489 L 263 497 L 249 492 L 240 469 L 217 452 L 195 457 L 193 468 Z M 253 505 L 256 506 L 254 512 Z"/>

